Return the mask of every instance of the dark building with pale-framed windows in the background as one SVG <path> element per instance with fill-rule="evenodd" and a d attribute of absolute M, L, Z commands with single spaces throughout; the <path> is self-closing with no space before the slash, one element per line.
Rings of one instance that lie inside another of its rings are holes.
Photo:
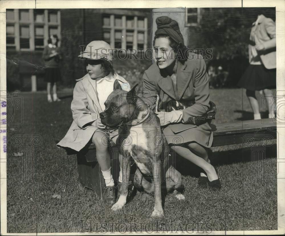
<path fill-rule="evenodd" d="M 198 26 L 200 10 L 185 10 L 185 26 Z M 62 51 L 63 84 L 72 86 L 84 74 L 78 63 L 80 47 L 104 40 L 112 48 L 143 52 L 152 47 L 152 9 L 7 9 L 7 87 L 44 89 L 42 51 L 50 35 L 57 34 Z M 9 70 L 8 70 L 9 69 Z"/>

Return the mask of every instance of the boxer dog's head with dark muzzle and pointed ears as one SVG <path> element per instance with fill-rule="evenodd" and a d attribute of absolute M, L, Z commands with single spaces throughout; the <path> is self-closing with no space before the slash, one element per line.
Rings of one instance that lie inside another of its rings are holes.
<path fill-rule="evenodd" d="M 135 86 L 136 87 L 136 86 Z M 118 80 L 114 82 L 114 90 L 105 101 L 105 111 L 100 113 L 101 122 L 109 127 L 116 127 L 130 121 L 134 103 L 131 97 L 135 96 L 135 87 L 127 92 L 121 88 Z"/>

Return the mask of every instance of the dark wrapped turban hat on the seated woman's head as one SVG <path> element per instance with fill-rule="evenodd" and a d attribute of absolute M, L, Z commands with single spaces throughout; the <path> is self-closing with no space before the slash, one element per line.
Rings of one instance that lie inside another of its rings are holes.
<path fill-rule="evenodd" d="M 184 44 L 183 36 L 180 32 L 179 25 L 177 21 L 172 20 L 167 16 L 158 17 L 155 20 L 157 25 L 157 30 L 155 35 L 168 35 L 175 42 Z"/>

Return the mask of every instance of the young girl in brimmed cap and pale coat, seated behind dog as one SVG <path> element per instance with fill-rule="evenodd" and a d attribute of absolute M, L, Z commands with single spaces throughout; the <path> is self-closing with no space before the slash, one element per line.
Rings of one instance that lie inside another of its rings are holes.
<path fill-rule="evenodd" d="M 92 41 L 79 57 L 85 60 L 88 73 L 77 80 L 71 103 L 74 121 L 65 137 L 57 145 L 80 151 L 90 140 L 95 144 L 96 157 L 105 180 L 103 199 L 114 204 L 115 186 L 106 140 L 108 137 L 111 139 L 117 137 L 118 133 L 117 131 L 108 133 L 105 130 L 99 113 L 105 110 L 104 102 L 113 91 L 116 79 L 126 91 L 130 90 L 130 86 L 123 77 L 114 72 L 111 64 L 111 46 L 108 43 Z"/>

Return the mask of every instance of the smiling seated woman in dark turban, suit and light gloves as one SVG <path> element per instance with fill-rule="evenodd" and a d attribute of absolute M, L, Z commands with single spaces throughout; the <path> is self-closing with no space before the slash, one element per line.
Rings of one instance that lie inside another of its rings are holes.
<path fill-rule="evenodd" d="M 146 102 L 155 109 L 159 95 L 158 117 L 169 145 L 176 153 L 203 169 L 198 184 L 220 189 L 215 168 L 210 164 L 207 149 L 211 147 L 213 133 L 206 121 L 197 127 L 174 134 L 169 124 L 189 123 L 193 117 L 205 115 L 209 109 L 209 79 L 204 60 L 189 53 L 178 23 L 169 17 L 156 19 L 157 30 L 154 37 L 154 57 L 156 62 L 144 73 L 143 88 Z M 149 97 L 150 96 L 150 97 Z M 167 104 L 178 101 L 194 103 L 182 110 L 165 112 Z"/>

